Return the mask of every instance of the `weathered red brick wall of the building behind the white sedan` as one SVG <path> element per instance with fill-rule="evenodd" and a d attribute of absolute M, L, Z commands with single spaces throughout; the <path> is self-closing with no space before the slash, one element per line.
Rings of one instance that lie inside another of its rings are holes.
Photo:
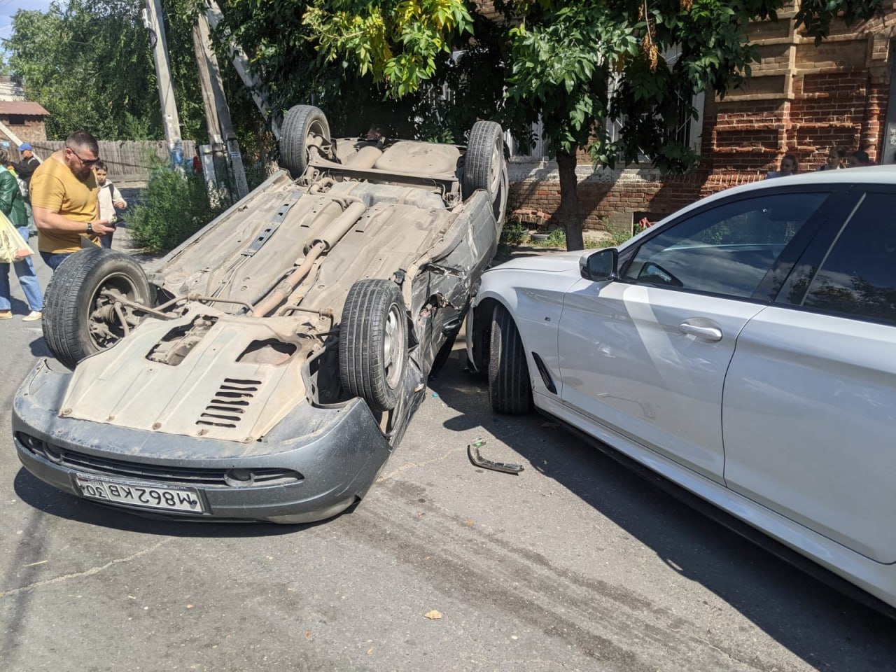
<path fill-rule="evenodd" d="M 793 153 L 805 172 L 821 166 L 828 151 L 843 146 L 877 160 L 890 95 L 890 42 L 896 3 L 888 14 L 847 29 L 815 47 L 795 30 L 792 11 L 780 22 L 757 23 L 750 34 L 760 62 L 742 90 L 726 99 L 707 96 L 703 109 L 702 162 L 693 174 L 663 177 L 656 170 L 590 168 L 580 152 L 579 206 L 585 228 L 631 224 L 633 214 L 669 214 L 730 186 L 754 182 Z M 547 221 L 560 202 L 556 166 L 512 167 L 511 211 L 539 213 Z"/>

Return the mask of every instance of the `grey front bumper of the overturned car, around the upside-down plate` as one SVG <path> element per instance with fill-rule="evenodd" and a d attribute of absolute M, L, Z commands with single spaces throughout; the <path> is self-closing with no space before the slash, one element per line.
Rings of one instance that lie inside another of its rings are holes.
<path fill-rule="evenodd" d="M 364 496 L 392 452 L 359 399 L 332 408 L 300 404 L 250 443 L 64 418 L 60 406 L 72 373 L 54 368 L 61 366 L 39 362 L 13 401 L 19 459 L 53 487 L 134 513 L 323 520 Z M 99 496 L 103 484 L 116 496 Z M 193 508 L 168 505 L 167 492 L 171 502 L 190 500 Z"/>

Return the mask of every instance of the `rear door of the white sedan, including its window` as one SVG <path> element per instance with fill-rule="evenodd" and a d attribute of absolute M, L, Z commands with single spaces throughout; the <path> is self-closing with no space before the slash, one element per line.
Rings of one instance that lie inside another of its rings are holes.
<path fill-rule="evenodd" d="M 728 487 L 882 563 L 896 562 L 893 211 L 896 194 L 866 194 L 819 237 L 737 340 L 722 409 Z"/>

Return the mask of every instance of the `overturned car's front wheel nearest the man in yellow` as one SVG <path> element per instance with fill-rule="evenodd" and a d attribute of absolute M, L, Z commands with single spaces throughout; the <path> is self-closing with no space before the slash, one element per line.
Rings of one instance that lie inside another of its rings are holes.
<path fill-rule="evenodd" d="M 53 357 L 69 368 L 99 350 L 111 348 L 125 335 L 114 300 L 152 305 L 149 280 L 128 254 L 101 247 L 77 252 L 59 265 L 44 294 L 44 340 Z M 129 326 L 142 315 L 119 306 Z"/>

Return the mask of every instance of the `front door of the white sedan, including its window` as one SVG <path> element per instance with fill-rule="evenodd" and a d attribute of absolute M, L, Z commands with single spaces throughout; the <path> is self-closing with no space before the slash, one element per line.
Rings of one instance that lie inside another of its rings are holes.
<path fill-rule="evenodd" d="M 827 195 L 712 204 L 646 238 L 620 280 L 578 282 L 558 332 L 563 403 L 722 482 L 722 385 L 737 336 Z"/>

